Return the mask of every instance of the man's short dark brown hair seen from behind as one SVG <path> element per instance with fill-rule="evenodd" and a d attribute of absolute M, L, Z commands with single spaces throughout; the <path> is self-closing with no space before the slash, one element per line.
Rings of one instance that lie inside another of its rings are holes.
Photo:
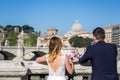
<path fill-rule="evenodd" d="M 101 27 L 97 27 L 93 30 L 93 36 L 96 37 L 97 40 L 104 40 L 105 39 L 105 31 Z"/>

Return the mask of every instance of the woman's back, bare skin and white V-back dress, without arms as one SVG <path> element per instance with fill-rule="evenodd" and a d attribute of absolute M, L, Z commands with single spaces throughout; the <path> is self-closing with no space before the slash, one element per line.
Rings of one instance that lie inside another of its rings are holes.
<path fill-rule="evenodd" d="M 47 55 L 46 61 L 49 70 L 48 80 L 55 80 L 53 78 L 65 80 L 65 55 L 58 55 L 53 63 L 49 63 Z"/>

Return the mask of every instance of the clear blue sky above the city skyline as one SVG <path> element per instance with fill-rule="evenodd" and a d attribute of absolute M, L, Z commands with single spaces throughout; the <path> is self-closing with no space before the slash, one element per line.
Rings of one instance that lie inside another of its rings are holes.
<path fill-rule="evenodd" d="M 120 24 L 120 0 L 0 0 L 0 25 L 29 25 L 59 35 L 71 30 L 75 20 L 83 30 Z"/>

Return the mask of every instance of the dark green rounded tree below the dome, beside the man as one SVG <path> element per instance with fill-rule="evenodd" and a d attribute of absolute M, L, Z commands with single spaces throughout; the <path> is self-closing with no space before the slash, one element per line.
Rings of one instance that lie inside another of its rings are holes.
<path fill-rule="evenodd" d="M 69 39 L 69 43 L 72 47 L 87 47 L 88 45 L 90 45 L 92 42 L 92 39 L 90 38 L 83 38 L 83 37 L 79 37 L 79 36 L 74 36 L 72 38 Z"/>

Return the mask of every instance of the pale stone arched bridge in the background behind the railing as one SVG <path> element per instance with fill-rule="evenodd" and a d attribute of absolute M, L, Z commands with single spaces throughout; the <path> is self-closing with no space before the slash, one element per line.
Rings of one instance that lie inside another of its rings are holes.
<path fill-rule="evenodd" d="M 61 52 L 63 54 L 70 53 L 71 50 L 76 48 L 62 48 Z M 77 48 L 81 53 L 84 53 L 85 48 Z M 3 56 L 4 60 L 13 60 L 18 58 L 22 59 L 27 54 L 34 53 L 39 54 L 40 56 L 48 53 L 48 47 L 18 47 L 18 46 L 0 46 L 0 54 Z"/>

